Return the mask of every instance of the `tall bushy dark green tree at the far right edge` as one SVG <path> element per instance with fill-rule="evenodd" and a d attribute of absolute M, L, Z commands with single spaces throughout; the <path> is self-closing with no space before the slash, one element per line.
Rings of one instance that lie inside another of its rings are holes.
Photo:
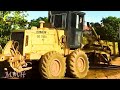
<path fill-rule="evenodd" d="M 107 40 L 118 41 L 118 30 L 120 18 L 109 16 L 101 20 L 104 31 L 106 32 Z"/>

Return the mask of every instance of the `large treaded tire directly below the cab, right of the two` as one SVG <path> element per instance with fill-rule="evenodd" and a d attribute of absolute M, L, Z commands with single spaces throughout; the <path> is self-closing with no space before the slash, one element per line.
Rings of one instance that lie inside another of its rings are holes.
<path fill-rule="evenodd" d="M 73 51 L 67 59 L 67 73 L 74 78 L 84 78 L 89 70 L 89 61 L 85 52 Z"/>

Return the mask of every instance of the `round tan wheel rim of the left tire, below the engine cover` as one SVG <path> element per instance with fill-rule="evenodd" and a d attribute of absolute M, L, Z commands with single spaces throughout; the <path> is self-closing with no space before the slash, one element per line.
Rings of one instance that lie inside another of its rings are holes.
<path fill-rule="evenodd" d="M 60 61 L 58 59 L 55 59 L 51 62 L 50 64 L 50 72 L 53 76 L 58 76 L 61 69 L 61 64 L 60 64 Z"/>

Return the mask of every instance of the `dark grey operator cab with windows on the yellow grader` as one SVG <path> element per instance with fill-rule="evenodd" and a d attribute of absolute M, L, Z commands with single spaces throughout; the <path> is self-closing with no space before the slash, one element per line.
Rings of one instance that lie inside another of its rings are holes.
<path fill-rule="evenodd" d="M 84 12 L 80 11 L 49 11 L 49 22 L 59 29 L 64 29 L 67 46 L 70 49 L 81 47 L 84 25 Z"/>

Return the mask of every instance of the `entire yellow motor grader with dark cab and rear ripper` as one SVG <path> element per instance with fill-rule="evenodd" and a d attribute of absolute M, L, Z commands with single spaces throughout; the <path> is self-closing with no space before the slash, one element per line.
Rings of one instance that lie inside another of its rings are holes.
<path fill-rule="evenodd" d="M 15 72 L 36 67 L 44 79 L 63 79 L 65 75 L 84 78 L 91 65 L 110 65 L 111 50 L 101 44 L 89 23 L 93 35 L 88 35 L 88 44 L 82 46 L 84 16 L 81 11 L 49 11 L 49 25 L 40 21 L 39 28 L 14 30 L 0 62 L 8 62 Z M 34 61 L 37 64 L 33 64 Z"/>

